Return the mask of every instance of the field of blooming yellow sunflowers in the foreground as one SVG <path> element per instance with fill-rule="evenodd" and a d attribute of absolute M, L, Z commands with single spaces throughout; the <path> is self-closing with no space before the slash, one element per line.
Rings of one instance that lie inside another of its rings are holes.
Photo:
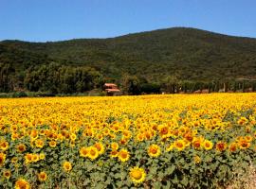
<path fill-rule="evenodd" d="M 226 188 L 255 144 L 256 94 L 0 99 L 0 188 Z"/>

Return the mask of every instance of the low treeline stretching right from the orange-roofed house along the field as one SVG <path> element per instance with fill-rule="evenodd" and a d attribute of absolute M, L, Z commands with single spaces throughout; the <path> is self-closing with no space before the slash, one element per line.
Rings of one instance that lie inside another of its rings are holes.
<path fill-rule="evenodd" d="M 166 77 L 160 82 L 151 83 L 143 77 L 122 77 L 124 94 L 190 94 L 190 93 L 227 93 L 255 92 L 256 80 L 229 79 L 212 81 L 179 80 L 176 77 Z"/>

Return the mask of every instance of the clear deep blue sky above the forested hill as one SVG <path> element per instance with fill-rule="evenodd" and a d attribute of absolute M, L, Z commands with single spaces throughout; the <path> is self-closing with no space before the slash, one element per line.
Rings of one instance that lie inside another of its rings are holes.
<path fill-rule="evenodd" d="M 256 0 L 0 0 L 0 41 L 107 38 L 173 26 L 256 38 Z"/>

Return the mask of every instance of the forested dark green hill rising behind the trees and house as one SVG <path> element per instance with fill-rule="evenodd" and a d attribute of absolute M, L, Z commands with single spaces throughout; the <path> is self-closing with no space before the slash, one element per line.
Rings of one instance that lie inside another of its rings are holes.
<path fill-rule="evenodd" d="M 92 67 L 105 78 L 123 75 L 160 82 L 251 78 L 256 76 L 256 39 L 231 37 L 194 28 L 174 27 L 109 39 L 54 43 L 3 41 L 1 67 L 20 79 L 43 64 Z"/>

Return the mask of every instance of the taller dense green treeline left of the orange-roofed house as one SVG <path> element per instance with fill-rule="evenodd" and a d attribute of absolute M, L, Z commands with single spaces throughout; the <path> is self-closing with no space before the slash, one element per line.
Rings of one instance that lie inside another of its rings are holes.
<path fill-rule="evenodd" d="M 103 77 L 90 67 L 72 67 L 59 63 L 32 66 L 24 72 L 10 64 L 0 64 L 0 92 L 46 92 L 74 94 L 101 88 Z"/>

